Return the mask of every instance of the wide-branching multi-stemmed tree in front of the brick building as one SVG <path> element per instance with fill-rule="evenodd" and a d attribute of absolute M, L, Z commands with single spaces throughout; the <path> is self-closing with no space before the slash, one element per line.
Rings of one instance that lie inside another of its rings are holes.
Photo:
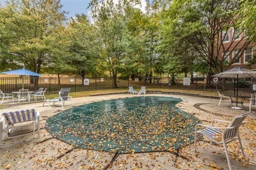
<path fill-rule="evenodd" d="M 233 38 L 230 40 L 230 45 L 224 45 L 224 37 L 227 34 L 232 32 L 232 37 L 235 36 L 234 28 L 238 31 L 236 36 L 243 32 L 239 27 L 243 20 L 242 15 L 234 12 L 241 6 L 237 0 L 175 0 L 172 5 L 179 8 L 176 19 L 177 31 L 180 31 L 182 38 L 186 38 L 193 45 L 214 74 L 226 70 L 237 62 L 244 53 L 244 49 L 251 43 L 252 35 L 247 34 L 247 38 L 242 36 L 237 42 L 235 42 L 236 38 Z M 228 57 L 226 53 L 227 51 L 232 53 L 237 47 L 236 44 L 241 44 L 242 47 L 226 64 L 225 60 Z M 221 50 L 222 55 L 220 55 Z"/>

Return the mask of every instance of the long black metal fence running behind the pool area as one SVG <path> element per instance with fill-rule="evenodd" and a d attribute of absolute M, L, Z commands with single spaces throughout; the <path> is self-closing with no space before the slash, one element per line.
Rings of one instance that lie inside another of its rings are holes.
<path fill-rule="evenodd" d="M 116 83 L 115 83 L 116 81 Z M 184 82 L 185 81 L 185 82 Z M 36 91 L 38 88 L 47 88 L 47 94 L 57 94 L 61 88 L 71 88 L 71 92 L 93 91 L 101 89 L 114 88 L 140 88 L 147 86 L 148 88 L 172 88 L 172 89 L 189 89 L 199 91 L 222 91 L 226 94 L 234 94 L 236 87 L 236 79 L 218 79 L 214 82 L 213 78 L 193 77 L 184 79 L 184 77 L 149 77 L 135 78 L 128 77 L 14 77 L 0 78 L 0 90 L 4 93 L 12 93 L 22 88 Z M 256 85 L 255 79 L 239 79 L 238 94 L 240 96 L 250 96 L 253 93 L 253 85 Z"/>

